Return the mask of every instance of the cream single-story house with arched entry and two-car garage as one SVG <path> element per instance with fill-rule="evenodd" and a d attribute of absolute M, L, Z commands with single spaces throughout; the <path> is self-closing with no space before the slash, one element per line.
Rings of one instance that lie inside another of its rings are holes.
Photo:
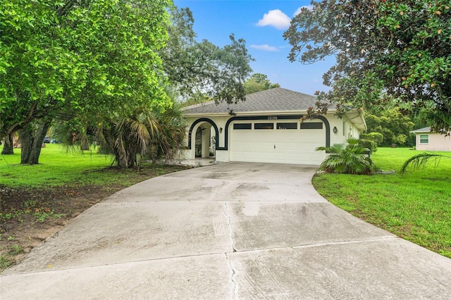
<path fill-rule="evenodd" d="M 315 96 L 275 88 L 248 94 L 237 104 L 210 101 L 188 106 L 187 149 L 182 158 L 319 165 L 326 153 L 316 147 L 359 137 L 366 123 L 360 109 L 340 119 L 334 115 L 335 108 L 302 122 L 300 118 L 316 101 Z"/>

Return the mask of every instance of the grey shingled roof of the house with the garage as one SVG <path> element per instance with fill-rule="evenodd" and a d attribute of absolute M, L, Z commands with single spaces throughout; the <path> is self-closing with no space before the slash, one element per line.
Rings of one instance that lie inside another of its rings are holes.
<path fill-rule="evenodd" d="M 226 104 L 214 101 L 187 106 L 186 114 L 197 113 L 244 113 L 252 111 L 305 111 L 309 107 L 315 107 L 316 97 L 290 89 L 266 89 L 265 91 L 246 95 L 245 101 L 237 104 Z"/>

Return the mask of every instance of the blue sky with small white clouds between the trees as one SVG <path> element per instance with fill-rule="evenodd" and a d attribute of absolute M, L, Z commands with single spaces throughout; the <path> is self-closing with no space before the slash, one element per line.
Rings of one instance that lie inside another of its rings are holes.
<path fill-rule="evenodd" d="M 229 44 L 231 33 L 246 40 L 254 73 L 263 73 L 273 83 L 293 91 L 314 94 L 328 90 L 322 75 L 334 58 L 311 65 L 290 63 L 290 44 L 283 32 L 290 19 L 310 0 L 174 0 L 178 7 L 188 7 L 194 16 L 194 31 L 199 40 L 208 39 L 217 46 Z"/>

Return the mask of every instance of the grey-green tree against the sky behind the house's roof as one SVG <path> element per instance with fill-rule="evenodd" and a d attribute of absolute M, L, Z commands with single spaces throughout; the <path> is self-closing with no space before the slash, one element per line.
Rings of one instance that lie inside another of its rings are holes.
<path fill-rule="evenodd" d="M 230 35 L 230 44 L 220 47 L 197 41 L 189 8 L 173 8 L 167 46 L 160 51 L 168 81 L 187 98 L 199 94 L 215 101 L 245 99 L 245 78 L 252 57 L 244 39 Z"/>

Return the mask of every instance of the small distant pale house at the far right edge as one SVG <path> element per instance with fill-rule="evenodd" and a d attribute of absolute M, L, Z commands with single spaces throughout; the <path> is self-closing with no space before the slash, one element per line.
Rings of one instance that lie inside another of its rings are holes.
<path fill-rule="evenodd" d="M 411 131 L 416 135 L 416 150 L 423 151 L 451 151 L 451 137 L 431 132 L 431 127 L 424 127 Z"/>

